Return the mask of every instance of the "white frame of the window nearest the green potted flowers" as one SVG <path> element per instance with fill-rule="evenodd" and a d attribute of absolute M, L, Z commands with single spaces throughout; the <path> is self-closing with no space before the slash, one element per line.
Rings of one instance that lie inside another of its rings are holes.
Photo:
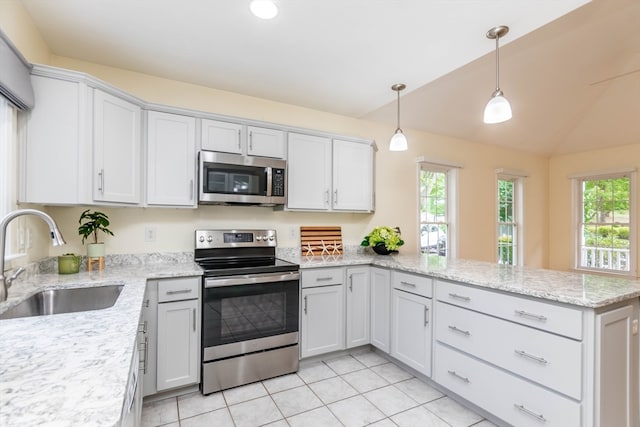
<path fill-rule="evenodd" d="M 457 257 L 457 219 L 458 219 L 458 169 L 462 168 L 461 165 L 440 162 L 440 161 L 427 161 L 424 158 L 418 158 L 417 161 L 417 200 L 418 200 L 418 212 L 417 212 L 417 249 L 419 253 L 422 252 L 420 237 L 421 229 L 423 226 L 421 208 L 422 208 L 422 195 L 420 193 L 421 175 L 422 171 L 432 171 L 438 173 L 444 173 L 446 177 L 446 195 L 445 195 L 445 221 L 439 222 L 447 226 L 446 235 L 446 255 L 444 258 L 452 259 Z"/>

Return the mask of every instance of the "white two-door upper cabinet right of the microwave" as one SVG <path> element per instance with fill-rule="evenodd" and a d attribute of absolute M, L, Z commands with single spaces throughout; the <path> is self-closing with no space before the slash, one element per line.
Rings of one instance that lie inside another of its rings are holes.
<path fill-rule="evenodd" d="M 371 144 L 289 133 L 287 208 L 373 211 Z"/>

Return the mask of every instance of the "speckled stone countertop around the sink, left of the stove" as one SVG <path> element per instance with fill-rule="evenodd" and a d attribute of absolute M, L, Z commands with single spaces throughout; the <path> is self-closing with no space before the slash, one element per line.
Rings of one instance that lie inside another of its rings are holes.
<path fill-rule="evenodd" d="M 155 258 L 134 265 L 116 258 L 99 272 L 14 282 L 0 312 L 42 289 L 124 288 L 107 309 L 0 320 L 1 426 L 119 425 L 146 280 L 202 274 L 188 257 Z"/>

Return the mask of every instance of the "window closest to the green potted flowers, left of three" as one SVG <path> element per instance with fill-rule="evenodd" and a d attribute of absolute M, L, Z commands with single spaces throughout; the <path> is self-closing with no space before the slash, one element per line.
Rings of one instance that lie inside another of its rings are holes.
<path fill-rule="evenodd" d="M 456 167 L 420 163 L 420 252 L 454 255 Z"/>

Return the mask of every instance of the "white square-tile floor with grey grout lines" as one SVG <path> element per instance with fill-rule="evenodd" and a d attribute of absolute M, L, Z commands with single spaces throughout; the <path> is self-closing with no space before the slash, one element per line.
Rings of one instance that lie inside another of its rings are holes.
<path fill-rule="evenodd" d="M 143 427 L 495 427 L 379 354 L 302 364 L 297 374 L 151 403 Z"/>

